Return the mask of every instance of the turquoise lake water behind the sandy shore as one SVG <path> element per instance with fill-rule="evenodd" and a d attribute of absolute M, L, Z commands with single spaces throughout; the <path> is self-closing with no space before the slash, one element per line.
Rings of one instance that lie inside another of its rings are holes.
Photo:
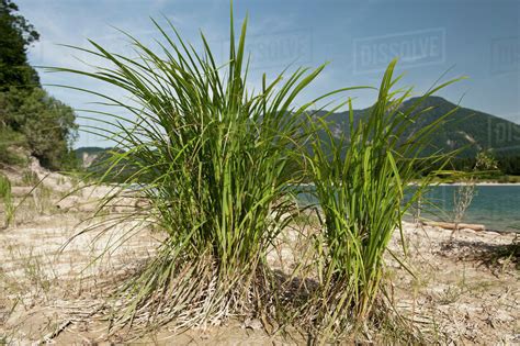
<path fill-rule="evenodd" d="M 303 190 L 313 189 L 307 186 Z M 453 194 L 457 186 L 436 186 L 426 194 L 421 217 L 453 221 Z M 303 204 L 315 203 L 310 193 L 298 196 Z M 432 207 L 436 205 L 436 207 Z M 405 217 L 411 220 L 411 216 Z M 462 222 L 484 224 L 487 230 L 520 232 L 520 186 L 477 186 Z"/>

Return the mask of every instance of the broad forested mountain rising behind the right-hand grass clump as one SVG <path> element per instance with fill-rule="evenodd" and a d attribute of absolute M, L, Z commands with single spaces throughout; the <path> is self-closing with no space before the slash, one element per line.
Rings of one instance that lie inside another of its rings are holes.
<path fill-rule="evenodd" d="M 412 98 L 405 101 L 402 108 L 409 108 L 416 100 Z M 422 102 L 420 110 L 430 107 L 433 109 L 420 115 L 405 135 L 432 123 L 457 105 L 441 97 L 429 97 Z M 370 108 L 354 110 L 354 122 L 368 116 L 369 111 Z M 325 112 L 318 113 L 318 115 L 323 114 Z M 347 111 L 332 113 L 327 118 L 327 121 L 334 135 L 339 136 L 341 132 L 349 132 L 349 113 Z M 432 150 L 451 152 L 464 147 L 460 157 L 475 157 L 476 153 L 481 150 L 490 150 L 497 158 L 520 156 L 520 125 L 506 119 L 461 107 L 441 124 L 434 133 L 432 142 L 434 145 Z"/>

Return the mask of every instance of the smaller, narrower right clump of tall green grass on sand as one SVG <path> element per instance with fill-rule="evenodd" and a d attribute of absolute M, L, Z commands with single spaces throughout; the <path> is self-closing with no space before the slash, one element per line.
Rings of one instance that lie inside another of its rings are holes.
<path fill-rule="evenodd" d="M 454 80 L 403 109 L 411 89 L 394 90 L 400 78 L 393 77 L 395 65 L 396 60 L 389 64 L 366 116 L 354 120 L 348 101 L 349 134 L 335 137 L 326 118 L 314 126 L 315 132 L 325 131 L 328 139 L 313 141 L 308 156 L 321 233 L 317 244 L 320 288 L 307 313 L 316 316 L 317 333 L 325 337 L 372 315 L 388 242 L 402 228 L 404 213 L 439 172 L 426 175 L 420 167 L 443 169 L 449 159 L 446 154 L 422 153 L 431 144 L 431 134 L 455 110 L 415 133 L 407 130 L 431 110 L 419 108 L 421 102 Z M 418 178 L 420 182 L 412 183 Z"/>

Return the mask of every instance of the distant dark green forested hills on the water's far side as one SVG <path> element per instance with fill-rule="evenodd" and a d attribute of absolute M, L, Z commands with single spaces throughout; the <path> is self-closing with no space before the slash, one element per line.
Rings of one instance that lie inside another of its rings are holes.
<path fill-rule="evenodd" d="M 415 102 L 409 99 L 403 103 L 406 109 Z M 507 175 L 520 175 L 520 125 L 508 120 L 487 114 L 484 112 L 471 110 L 440 98 L 430 97 L 423 101 L 421 110 L 431 108 L 425 112 L 417 122 L 410 126 L 409 131 L 403 135 L 403 139 L 411 135 L 412 132 L 427 126 L 443 114 L 455 110 L 440 129 L 433 134 L 433 141 L 429 147 L 430 154 L 442 150 L 444 153 L 461 149 L 456 158 L 453 159 L 452 168 L 461 170 L 471 170 L 476 164 L 478 153 L 497 160 L 498 169 Z M 366 116 L 369 109 L 354 110 L 354 122 L 358 123 Z M 325 116 L 325 111 L 317 112 L 316 116 Z M 328 114 L 326 118 L 331 133 L 339 138 L 341 133 L 349 132 L 348 112 L 337 112 Z M 327 141 L 324 132 L 319 133 L 321 141 Z M 82 147 L 76 149 L 77 158 L 82 163 L 83 168 L 92 170 L 99 168 L 100 158 L 109 155 L 110 148 Z"/>

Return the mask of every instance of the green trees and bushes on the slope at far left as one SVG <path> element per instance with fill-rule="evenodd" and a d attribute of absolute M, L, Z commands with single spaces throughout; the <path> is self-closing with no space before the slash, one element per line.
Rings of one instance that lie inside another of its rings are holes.
<path fill-rule="evenodd" d="M 72 109 L 42 88 L 27 49 L 39 34 L 10 0 L 0 0 L 0 165 L 34 156 L 48 169 L 75 166 Z"/>

